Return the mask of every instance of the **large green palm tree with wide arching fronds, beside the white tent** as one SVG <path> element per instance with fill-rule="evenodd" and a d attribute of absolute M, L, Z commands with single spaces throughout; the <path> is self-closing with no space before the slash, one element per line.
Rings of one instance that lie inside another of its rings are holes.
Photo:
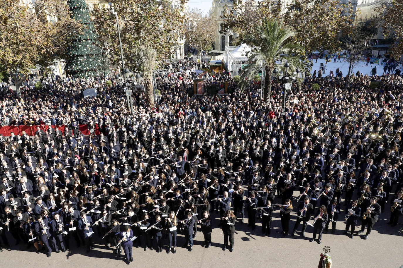
<path fill-rule="evenodd" d="M 280 69 L 288 62 L 291 72 L 299 68 L 301 74 L 304 74 L 305 68 L 297 54 L 303 54 L 305 49 L 290 42 L 294 36 L 295 31 L 283 27 L 283 23 L 276 19 L 264 20 L 262 25 L 255 26 L 253 31 L 244 35 L 243 42 L 252 49 L 248 55 L 249 64 L 243 68 L 241 74 L 241 88 L 245 88 L 249 80 L 264 68 L 264 103 L 270 104 L 271 76 L 274 68 Z M 298 78 L 297 82 L 300 85 L 302 79 Z"/>

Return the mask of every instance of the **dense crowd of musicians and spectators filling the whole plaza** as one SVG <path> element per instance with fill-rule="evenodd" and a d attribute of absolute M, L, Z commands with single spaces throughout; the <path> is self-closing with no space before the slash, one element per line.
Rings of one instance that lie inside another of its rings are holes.
<path fill-rule="evenodd" d="M 206 84 L 228 81 L 233 92 L 191 96 L 197 63 L 169 67 L 157 79 L 160 102 L 148 107 L 133 92 L 133 114 L 115 80 L 43 80 L 21 97 L 1 93 L 2 126 L 37 126 L 35 136 L 0 137 L 2 245 L 50 257 L 104 243 L 123 248 L 129 264 L 133 245 L 175 253 L 178 233 L 190 251 L 196 237 L 209 248 L 217 227 L 232 252 L 236 225 L 253 232 L 261 221 L 270 235 L 273 213 L 283 235 L 302 223 L 305 236 L 312 225 L 318 243 L 341 221 L 351 238 L 366 229 L 364 239 L 378 217 L 399 224 L 401 76 L 307 76 L 283 109 L 280 82 L 264 103 L 260 85 L 240 90 L 228 73 L 207 74 Z M 98 96 L 83 98 L 86 88 Z M 79 124 L 100 135 L 84 137 Z"/>

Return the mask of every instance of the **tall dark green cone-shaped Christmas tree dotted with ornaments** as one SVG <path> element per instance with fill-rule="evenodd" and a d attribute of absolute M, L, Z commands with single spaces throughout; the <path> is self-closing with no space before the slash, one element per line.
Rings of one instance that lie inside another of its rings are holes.
<path fill-rule="evenodd" d="M 101 50 L 97 46 L 97 34 L 91 22 L 89 8 L 84 0 L 67 0 L 72 17 L 82 25 L 79 33 L 70 34 L 66 51 L 66 74 L 74 78 L 86 78 L 100 74 Z"/>

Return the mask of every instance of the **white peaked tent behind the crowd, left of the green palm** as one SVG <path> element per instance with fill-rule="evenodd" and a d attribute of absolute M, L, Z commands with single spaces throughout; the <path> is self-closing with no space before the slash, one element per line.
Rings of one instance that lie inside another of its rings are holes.
<path fill-rule="evenodd" d="M 232 76 L 238 75 L 239 68 L 243 67 L 248 57 L 247 53 L 251 48 L 246 44 L 241 44 L 238 47 L 226 46 L 225 47 L 225 63 L 227 70 Z"/>

